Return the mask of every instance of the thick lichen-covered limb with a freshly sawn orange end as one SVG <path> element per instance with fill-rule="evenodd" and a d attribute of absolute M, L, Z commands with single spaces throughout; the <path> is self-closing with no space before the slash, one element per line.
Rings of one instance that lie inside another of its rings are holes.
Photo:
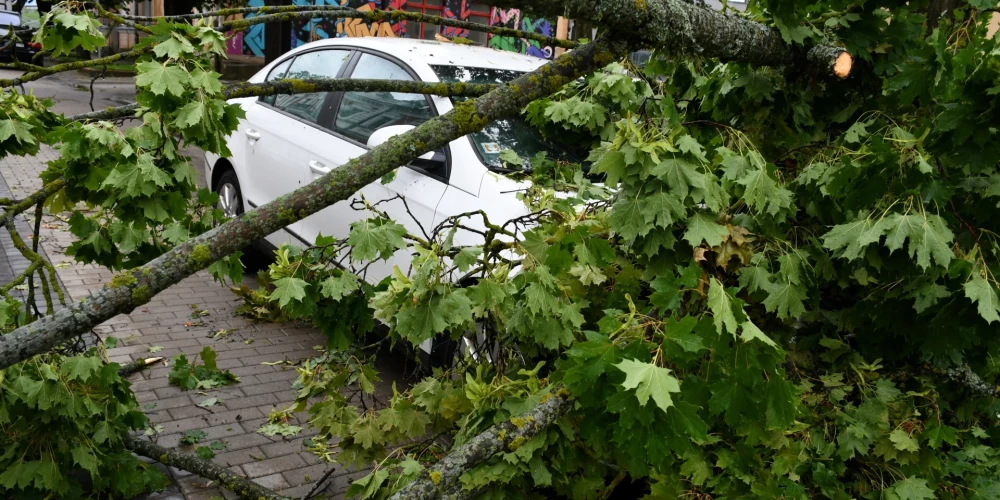
<path fill-rule="evenodd" d="M 681 0 L 496 0 L 544 16 L 566 16 L 602 26 L 613 37 L 675 54 L 713 57 L 759 66 L 810 66 L 841 78 L 853 58 L 839 47 L 786 43 L 778 30 L 741 15 Z"/>

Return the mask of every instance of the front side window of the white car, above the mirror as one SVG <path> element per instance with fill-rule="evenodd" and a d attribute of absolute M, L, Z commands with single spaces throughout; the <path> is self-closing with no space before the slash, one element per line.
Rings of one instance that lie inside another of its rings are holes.
<path fill-rule="evenodd" d="M 358 59 L 351 78 L 413 80 L 398 64 L 368 53 Z M 423 94 L 402 92 L 345 92 L 334 130 L 362 144 L 372 133 L 390 125 L 420 125 L 433 117 Z"/>

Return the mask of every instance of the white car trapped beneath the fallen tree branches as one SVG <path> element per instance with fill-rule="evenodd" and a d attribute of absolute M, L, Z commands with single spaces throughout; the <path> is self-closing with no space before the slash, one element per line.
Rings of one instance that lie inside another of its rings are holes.
<path fill-rule="evenodd" d="M 502 83 L 546 62 L 512 52 L 427 40 L 339 38 L 292 50 L 249 81 L 375 78 Z M 397 92 L 324 92 L 232 102 L 246 111 L 246 119 L 229 138 L 232 157 L 207 154 L 205 161 L 205 178 L 220 194 L 220 206 L 228 216 L 308 184 L 389 137 L 453 107 L 448 97 Z M 511 149 L 530 158 L 550 148 L 519 118 L 500 120 L 403 166 L 387 184 L 376 181 L 365 186 L 352 198 L 363 195 L 374 203 L 403 196 L 413 217 L 398 199 L 379 205 L 379 209 L 418 235 L 421 227 L 429 231 L 448 217 L 474 210 L 483 210 L 493 223 L 503 223 L 526 214 L 527 209 L 516 198 L 523 184 L 491 172 L 500 166 L 500 152 Z M 369 215 L 353 210 L 351 200 L 345 200 L 266 240 L 277 247 L 284 243 L 308 246 L 320 234 L 343 238 L 352 222 Z M 477 244 L 461 239 L 458 235 L 456 243 Z M 389 261 L 372 264 L 365 279 L 377 283 L 397 265 L 406 272 L 410 260 L 409 252 L 400 250 Z"/>

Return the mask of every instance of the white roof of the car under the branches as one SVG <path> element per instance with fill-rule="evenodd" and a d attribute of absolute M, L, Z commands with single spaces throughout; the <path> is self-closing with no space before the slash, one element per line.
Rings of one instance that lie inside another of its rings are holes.
<path fill-rule="evenodd" d="M 487 47 L 438 42 L 435 40 L 389 37 L 328 38 L 298 47 L 296 52 L 316 47 L 336 46 L 377 50 L 394 56 L 411 67 L 420 65 L 464 66 L 526 72 L 532 71 L 548 62 L 539 57 Z"/>

